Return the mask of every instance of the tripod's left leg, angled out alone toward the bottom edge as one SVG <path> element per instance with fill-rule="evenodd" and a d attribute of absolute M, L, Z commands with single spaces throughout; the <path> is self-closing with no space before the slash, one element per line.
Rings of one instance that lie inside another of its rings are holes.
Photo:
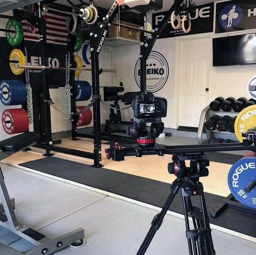
<path fill-rule="evenodd" d="M 165 217 L 165 214 L 168 211 L 168 208 L 171 205 L 171 202 L 174 200 L 174 197 L 176 196 L 176 194 L 179 191 L 179 186 L 173 184 L 173 185 L 171 185 L 171 190 L 172 191 L 171 191 L 170 195 L 168 196 L 168 199 L 166 200 L 165 205 L 162 208 L 162 211 L 154 217 L 154 219 L 151 223 L 152 226 L 150 227 L 150 230 L 147 233 L 147 236 L 145 237 L 143 243 L 141 244 L 141 247 L 139 248 L 137 255 L 144 255 L 145 252 L 147 251 L 147 248 L 150 245 L 153 237 L 155 236 L 156 231 L 162 225 L 163 219 Z"/>

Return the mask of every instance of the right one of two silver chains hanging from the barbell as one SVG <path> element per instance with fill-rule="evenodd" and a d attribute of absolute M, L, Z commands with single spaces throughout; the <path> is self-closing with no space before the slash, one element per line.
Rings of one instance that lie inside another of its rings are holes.
<path fill-rule="evenodd" d="M 66 67 L 70 67 L 70 53 L 66 54 Z M 65 119 L 69 119 L 71 115 L 71 86 L 69 84 L 69 76 L 70 70 L 66 69 L 66 85 L 64 88 L 64 108 L 65 112 Z"/>

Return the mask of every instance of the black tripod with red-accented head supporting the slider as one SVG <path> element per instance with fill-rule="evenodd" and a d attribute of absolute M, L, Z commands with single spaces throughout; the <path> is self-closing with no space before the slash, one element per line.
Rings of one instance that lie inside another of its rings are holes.
<path fill-rule="evenodd" d="M 150 245 L 156 231 L 162 225 L 165 214 L 168 211 L 174 197 L 181 189 L 183 209 L 185 215 L 186 237 L 188 239 L 189 255 L 215 255 L 215 249 L 212 242 L 212 230 L 210 229 L 209 217 L 207 214 L 206 202 L 203 194 L 203 185 L 199 182 L 200 176 L 208 176 L 209 166 L 205 156 L 196 156 L 191 160 L 190 167 L 185 166 L 185 159 L 191 157 L 183 157 L 174 155 L 174 162 L 168 164 L 169 173 L 174 173 L 178 178 L 171 185 L 171 193 L 162 208 L 151 223 L 151 227 L 145 237 L 137 255 L 144 255 Z M 207 165 L 208 164 L 208 165 Z M 191 196 L 200 196 L 201 209 L 192 206 Z M 192 217 L 194 229 L 190 229 L 188 216 Z"/>

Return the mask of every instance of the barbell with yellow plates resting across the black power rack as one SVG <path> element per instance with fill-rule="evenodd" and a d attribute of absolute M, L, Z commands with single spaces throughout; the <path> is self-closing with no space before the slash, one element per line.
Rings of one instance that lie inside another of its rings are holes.
<path fill-rule="evenodd" d="M 24 54 L 22 53 L 21 50 L 14 49 L 12 50 L 9 58 L 9 64 L 12 70 L 12 73 L 16 75 L 21 75 L 24 72 L 24 69 L 39 69 L 39 70 L 46 70 L 46 69 L 53 69 L 53 70 L 74 70 L 75 71 L 75 76 L 79 76 L 79 74 L 82 71 L 91 71 L 90 68 L 82 68 L 84 67 L 82 65 L 82 59 L 78 56 L 74 56 L 74 61 L 77 64 L 76 68 L 72 67 L 49 67 L 45 65 L 26 65 L 26 59 Z M 104 73 L 116 73 L 117 70 L 112 70 L 112 69 L 100 69 L 101 72 Z"/>

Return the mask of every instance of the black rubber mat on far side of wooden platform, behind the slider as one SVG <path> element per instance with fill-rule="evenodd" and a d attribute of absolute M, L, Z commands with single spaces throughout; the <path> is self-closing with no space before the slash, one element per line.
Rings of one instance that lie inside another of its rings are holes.
<path fill-rule="evenodd" d="M 114 145 L 115 142 L 107 142 L 105 144 Z M 119 144 L 121 147 L 130 147 L 129 144 L 125 144 L 122 142 Z M 235 164 L 235 162 L 237 162 L 242 157 L 244 157 L 242 155 L 235 155 L 235 154 L 223 153 L 223 152 L 206 152 L 205 155 L 206 155 L 206 158 L 209 159 L 210 162 L 212 161 L 212 162 L 230 164 L 230 165 Z"/>

